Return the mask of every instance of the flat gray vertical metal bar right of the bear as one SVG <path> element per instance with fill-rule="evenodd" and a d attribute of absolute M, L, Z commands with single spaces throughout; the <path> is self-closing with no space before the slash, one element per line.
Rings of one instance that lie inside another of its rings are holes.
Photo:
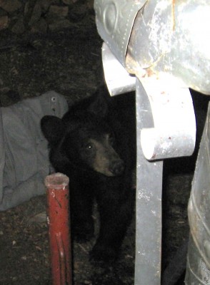
<path fill-rule="evenodd" d="M 136 263 L 135 285 L 159 285 L 161 281 L 162 161 L 149 162 L 141 150 L 143 128 L 154 127 L 150 104 L 136 79 Z"/>

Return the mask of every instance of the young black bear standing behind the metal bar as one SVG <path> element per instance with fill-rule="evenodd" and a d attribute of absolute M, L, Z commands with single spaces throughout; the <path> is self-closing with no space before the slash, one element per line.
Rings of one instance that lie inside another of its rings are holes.
<path fill-rule="evenodd" d="M 90 257 L 116 259 L 134 207 L 134 95 L 111 98 L 105 88 L 75 103 L 63 118 L 44 116 L 51 164 L 69 177 L 73 237 L 94 234 L 96 200 L 100 230 Z"/>

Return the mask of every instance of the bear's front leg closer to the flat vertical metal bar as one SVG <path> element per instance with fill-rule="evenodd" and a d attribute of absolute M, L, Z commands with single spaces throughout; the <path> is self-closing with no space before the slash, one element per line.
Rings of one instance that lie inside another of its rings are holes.
<path fill-rule="evenodd" d="M 101 225 L 99 238 L 90 254 L 91 259 L 105 262 L 116 259 L 131 222 L 133 204 L 131 194 L 122 199 L 121 195 L 112 193 L 110 197 L 98 200 Z"/>

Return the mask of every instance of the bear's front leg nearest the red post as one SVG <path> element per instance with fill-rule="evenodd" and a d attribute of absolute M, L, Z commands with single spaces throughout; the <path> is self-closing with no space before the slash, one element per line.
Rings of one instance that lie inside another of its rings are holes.
<path fill-rule="evenodd" d="M 71 191 L 70 211 L 73 239 L 81 242 L 91 239 L 94 235 L 92 218 L 93 197 L 86 192 Z"/>

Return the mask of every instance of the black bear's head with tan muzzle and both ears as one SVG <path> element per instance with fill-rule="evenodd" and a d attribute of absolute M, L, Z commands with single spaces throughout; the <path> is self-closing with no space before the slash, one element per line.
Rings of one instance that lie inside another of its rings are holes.
<path fill-rule="evenodd" d="M 73 167 L 107 177 L 124 172 L 124 161 L 117 153 L 115 134 L 106 118 L 107 104 L 97 100 L 83 100 L 62 119 L 51 115 L 41 119 L 41 130 L 49 141 L 50 160 L 56 171 L 68 175 Z"/>

